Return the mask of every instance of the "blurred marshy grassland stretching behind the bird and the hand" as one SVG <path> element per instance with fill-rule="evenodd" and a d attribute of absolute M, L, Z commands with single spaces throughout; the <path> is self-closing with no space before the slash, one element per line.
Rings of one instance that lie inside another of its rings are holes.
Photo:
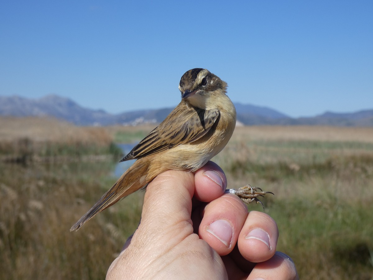
<path fill-rule="evenodd" d="M 113 141 L 152 128 L 1 118 L 0 279 L 103 279 L 137 227 L 143 193 L 69 228 L 115 183 Z M 275 193 L 265 212 L 301 279 L 373 279 L 372 128 L 237 127 L 213 160 L 229 187 Z"/>

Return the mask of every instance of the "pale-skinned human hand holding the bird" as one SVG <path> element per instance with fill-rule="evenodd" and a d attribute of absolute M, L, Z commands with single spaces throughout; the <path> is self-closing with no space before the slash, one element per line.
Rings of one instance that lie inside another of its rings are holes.
<path fill-rule="evenodd" d="M 248 213 L 238 197 L 222 195 L 225 188 L 213 162 L 158 175 L 106 279 L 298 279 L 294 262 L 276 252 L 275 221 Z"/>

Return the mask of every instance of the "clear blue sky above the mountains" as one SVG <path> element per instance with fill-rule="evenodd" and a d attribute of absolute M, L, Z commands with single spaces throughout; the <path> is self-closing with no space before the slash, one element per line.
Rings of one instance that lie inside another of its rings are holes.
<path fill-rule="evenodd" d="M 373 1 L 2 1 L 0 95 L 176 106 L 191 68 L 287 115 L 373 108 Z"/>

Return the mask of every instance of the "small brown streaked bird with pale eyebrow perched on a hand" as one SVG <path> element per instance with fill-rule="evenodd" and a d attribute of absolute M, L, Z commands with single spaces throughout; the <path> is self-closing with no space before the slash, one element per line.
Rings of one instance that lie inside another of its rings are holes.
<path fill-rule="evenodd" d="M 207 69 L 186 71 L 179 83 L 179 105 L 120 161 L 136 159 L 70 231 L 78 230 L 122 197 L 146 187 L 160 173 L 194 172 L 217 155 L 236 125 L 236 109 L 227 87 L 225 81 Z"/>

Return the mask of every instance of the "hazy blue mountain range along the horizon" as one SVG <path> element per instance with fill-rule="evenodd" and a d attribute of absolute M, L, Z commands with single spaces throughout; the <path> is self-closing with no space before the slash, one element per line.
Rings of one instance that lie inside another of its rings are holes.
<path fill-rule="evenodd" d="M 242 125 L 333 125 L 373 127 L 373 109 L 352 113 L 325 112 L 322 115 L 291 118 L 268 107 L 235 103 L 237 121 Z M 76 125 L 137 125 L 159 123 L 173 108 L 148 109 L 119 114 L 84 108 L 57 95 L 40 99 L 0 96 L 0 116 L 53 116 Z"/>

